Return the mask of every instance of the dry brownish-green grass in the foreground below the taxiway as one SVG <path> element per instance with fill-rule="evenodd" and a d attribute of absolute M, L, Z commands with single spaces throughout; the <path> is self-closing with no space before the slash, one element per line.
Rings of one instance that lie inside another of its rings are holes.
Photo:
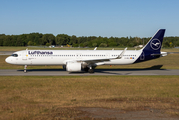
<path fill-rule="evenodd" d="M 3 76 L 0 119 L 69 119 L 77 107 L 179 115 L 179 76 Z"/>

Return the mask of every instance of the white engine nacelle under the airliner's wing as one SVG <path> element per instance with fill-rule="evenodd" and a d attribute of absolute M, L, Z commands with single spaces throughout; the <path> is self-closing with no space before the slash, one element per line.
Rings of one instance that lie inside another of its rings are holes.
<path fill-rule="evenodd" d="M 66 70 L 69 72 L 79 72 L 81 71 L 81 63 L 78 62 L 67 62 Z"/>

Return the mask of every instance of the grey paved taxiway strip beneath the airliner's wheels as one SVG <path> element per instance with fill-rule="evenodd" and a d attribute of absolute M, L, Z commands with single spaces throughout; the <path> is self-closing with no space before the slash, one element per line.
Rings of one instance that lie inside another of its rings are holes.
<path fill-rule="evenodd" d="M 63 69 L 1 69 L 0 76 L 89 76 L 89 75 L 179 75 L 179 70 L 171 69 L 95 69 L 95 73 L 67 72 Z"/>

